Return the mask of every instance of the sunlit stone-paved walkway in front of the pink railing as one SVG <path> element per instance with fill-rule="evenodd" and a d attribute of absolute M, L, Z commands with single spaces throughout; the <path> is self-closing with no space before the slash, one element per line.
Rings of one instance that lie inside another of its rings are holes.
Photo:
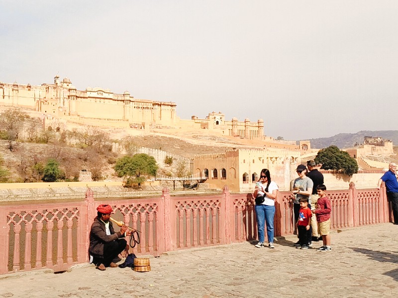
<path fill-rule="evenodd" d="M 0 298 L 398 296 L 398 225 L 332 233 L 330 252 L 295 249 L 296 240 L 279 238 L 273 250 L 246 242 L 172 252 L 151 258 L 152 271 L 142 273 L 80 265 L 8 274 Z"/>

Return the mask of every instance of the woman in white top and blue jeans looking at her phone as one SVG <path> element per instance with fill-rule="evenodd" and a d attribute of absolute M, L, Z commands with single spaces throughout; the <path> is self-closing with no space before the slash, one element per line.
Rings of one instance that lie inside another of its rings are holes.
<path fill-rule="evenodd" d="M 264 224 L 267 225 L 268 247 L 274 246 L 274 215 L 275 215 L 275 200 L 277 198 L 278 185 L 271 181 L 270 171 L 262 169 L 260 173 L 259 182 L 256 183 L 254 189 L 254 198 L 256 200 L 256 218 L 257 231 L 259 242 L 256 247 L 264 247 Z M 264 197 L 264 201 L 262 200 Z M 262 202 L 261 202 L 262 201 Z"/>

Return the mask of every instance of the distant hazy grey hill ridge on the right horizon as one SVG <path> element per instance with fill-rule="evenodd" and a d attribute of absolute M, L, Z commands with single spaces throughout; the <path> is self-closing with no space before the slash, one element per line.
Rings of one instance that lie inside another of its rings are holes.
<path fill-rule="evenodd" d="M 398 131 L 360 131 L 355 134 L 338 134 L 329 138 L 310 139 L 312 148 L 326 148 L 331 145 L 340 149 L 354 147 L 355 143 L 362 144 L 364 137 L 382 137 L 391 140 L 393 144 L 398 144 Z"/>

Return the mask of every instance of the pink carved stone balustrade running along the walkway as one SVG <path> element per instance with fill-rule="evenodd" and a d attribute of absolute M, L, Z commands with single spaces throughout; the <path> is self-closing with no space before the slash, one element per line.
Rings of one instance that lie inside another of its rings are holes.
<path fill-rule="evenodd" d="M 351 183 L 348 190 L 327 194 L 332 229 L 391 221 L 384 186 L 357 190 Z M 257 239 L 252 194 L 230 194 L 227 186 L 219 195 L 171 197 L 164 188 L 161 197 L 127 200 L 94 200 L 89 188 L 82 202 L 0 206 L 0 274 L 64 271 L 88 262 L 90 227 L 100 204 L 111 205 L 112 218 L 140 231 L 140 243 L 130 248 L 137 255 Z M 293 234 L 290 192 L 279 192 L 275 207 L 275 235 Z"/>

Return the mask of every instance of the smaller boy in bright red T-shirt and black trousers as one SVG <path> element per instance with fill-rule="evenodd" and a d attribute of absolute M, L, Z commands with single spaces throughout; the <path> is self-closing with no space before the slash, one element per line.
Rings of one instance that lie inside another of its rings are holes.
<path fill-rule="evenodd" d="M 308 249 L 308 245 L 312 239 L 312 231 L 309 229 L 311 226 L 312 213 L 308 208 L 307 198 L 300 198 L 299 202 L 300 211 L 298 212 L 297 229 L 300 246 L 297 246 L 296 248 Z"/>

